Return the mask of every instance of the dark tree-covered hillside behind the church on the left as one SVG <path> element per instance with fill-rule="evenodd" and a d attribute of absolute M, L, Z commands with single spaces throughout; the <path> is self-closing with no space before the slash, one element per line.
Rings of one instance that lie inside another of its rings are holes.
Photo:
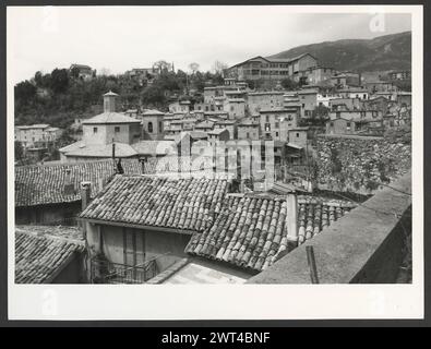
<path fill-rule="evenodd" d="M 180 70 L 177 73 L 161 72 L 152 84 L 141 84 L 125 75 L 82 80 L 67 69 L 55 69 L 47 74 L 36 72 L 29 81 L 14 86 L 15 124 L 49 123 L 67 128 L 75 118 L 100 112 L 101 96 L 108 91 L 119 94 L 119 110 L 137 106 L 167 110 L 170 96 L 182 93 L 187 85 L 202 93 L 208 80 L 223 83 L 219 74 L 196 72 L 187 77 Z M 189 99 L 197 97 L 193 95 Z"/>

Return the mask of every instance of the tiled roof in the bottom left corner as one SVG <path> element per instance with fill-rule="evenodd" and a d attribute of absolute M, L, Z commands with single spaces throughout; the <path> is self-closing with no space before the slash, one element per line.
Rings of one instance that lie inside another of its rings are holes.
<path fill-rule="evenodd" d="M 50 282 L 76 253 L 84 251 L 84 241 L 76 239 L 76 228 L 34 228 L 16 227 L 16 284 Z M 74 239 L 69 239 L 69 234 Z"/>

